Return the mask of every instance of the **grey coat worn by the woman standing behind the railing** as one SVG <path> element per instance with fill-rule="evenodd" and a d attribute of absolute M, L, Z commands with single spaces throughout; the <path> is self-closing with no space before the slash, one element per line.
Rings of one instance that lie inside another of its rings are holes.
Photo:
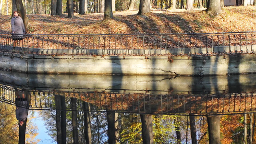
<path fill-rule="evenodd" d="M 15 36 L 23 36 L 25 34 L 23 20 L 20 16 L 13 17 L 11 20 L 11 24 L 12 24 L 12 33 L 15 32 L 14 34 L 21 34 L 21 35 L 13 35 L 13 38 L 19 38 Z"/>

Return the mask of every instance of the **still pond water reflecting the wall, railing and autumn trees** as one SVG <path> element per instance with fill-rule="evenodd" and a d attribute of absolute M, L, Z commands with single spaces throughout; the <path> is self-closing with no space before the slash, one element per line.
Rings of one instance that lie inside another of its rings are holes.
<path fill-rule="evenodd" d="M 1 72 L 0 86 L 0 104 L 13 107 L 14 118 L 15 93 L 24 92 L 27 97 L 26 133 L 39 133 L 37 137 L 26 135 L 27 143 L 140 144 L 145 136 L 154 144 L 212 144 L 212 138 L 222 144 L 240 144 L 255 139 L 255 74 L 174 77 Z M 144 120 L 149 122 L 147 127 Z M 208 127 L 213 122 L 219 123 L 217 129 Z M 211 132 L 217 132 L 217 137 Z"/>

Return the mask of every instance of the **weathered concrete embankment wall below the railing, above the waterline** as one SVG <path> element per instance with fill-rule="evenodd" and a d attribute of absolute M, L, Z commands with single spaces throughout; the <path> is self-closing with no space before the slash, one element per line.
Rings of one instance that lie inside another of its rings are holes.
<path fill-rule="evenodd" d="M 256 55 L 102 57 L 0 53 L 0 68 L 27 73 L 225 75 L 256 73 Z"/>

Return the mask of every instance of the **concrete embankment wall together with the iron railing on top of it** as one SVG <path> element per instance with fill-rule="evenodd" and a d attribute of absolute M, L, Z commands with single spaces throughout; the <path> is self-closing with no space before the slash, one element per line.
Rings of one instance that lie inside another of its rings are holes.
<path fill-rule="evenodd" d="M 212 34 L 0 34 L 0 69 L 24 73 L 227 75 L 256 73 L 256 32 Z"/>

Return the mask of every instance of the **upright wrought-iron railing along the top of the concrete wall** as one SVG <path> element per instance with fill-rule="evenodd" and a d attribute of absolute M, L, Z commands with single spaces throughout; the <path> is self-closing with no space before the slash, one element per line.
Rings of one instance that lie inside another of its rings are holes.
<path fill-rule="evenodd" d="M 141 55 L 254 53 L 256 32 L 208 34 L 24 35 L 0 34 L 0 51 L 34 54 Z"/>

